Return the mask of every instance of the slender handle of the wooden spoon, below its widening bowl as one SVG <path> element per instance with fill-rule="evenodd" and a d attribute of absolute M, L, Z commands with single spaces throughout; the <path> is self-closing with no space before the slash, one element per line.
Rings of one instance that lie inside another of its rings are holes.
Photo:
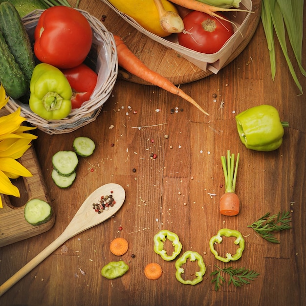
<path fill-rule="evenodd" d="M 25 264 L 19 271 L 11 276 L 5 283 L 0 285 L 0 296 L 2 296 L 9 288 L 20 281 L 23 276 L 33 270 L 39 263 L 44 261 L 51 253 L 67 240 L 66 235 L 59 236 L 56 240 L 50 243 L 42 252 L 36 255 L 31 261 Z"/>

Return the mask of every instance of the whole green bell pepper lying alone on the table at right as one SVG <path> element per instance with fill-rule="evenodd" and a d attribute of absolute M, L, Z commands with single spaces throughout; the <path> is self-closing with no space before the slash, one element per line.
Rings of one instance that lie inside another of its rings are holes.
<path fill-rule="evenodd" d="M 246 148 L 256 151 L 273 151 L 283 142 L 284 127 L 279 113 L 271 105 L 260 105 L 242 111 L 236 116 L 240 140 Z"/>

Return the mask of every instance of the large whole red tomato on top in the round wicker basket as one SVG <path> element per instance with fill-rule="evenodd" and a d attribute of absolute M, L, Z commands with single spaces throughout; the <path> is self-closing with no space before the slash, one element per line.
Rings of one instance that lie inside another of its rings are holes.
<path fill-rule="evenodd" d="M 34 53 L 41 62 L 58 68 L 72 68 L 87 57 L 92 30 L 87 19 L 76 9 L 52 6 L 40 16 L 34 38 Z"/>

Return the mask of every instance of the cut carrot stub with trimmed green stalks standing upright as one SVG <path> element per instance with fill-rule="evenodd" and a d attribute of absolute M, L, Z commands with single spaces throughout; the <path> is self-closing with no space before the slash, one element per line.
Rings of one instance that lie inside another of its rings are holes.
<path fill-rule="evenodd" d="M 225 156 L 221 156 L 222 168 L 225 178 L 225 193 L 219 201 L 220 214 L 224 216 L 236 216 L 240 210 L 240 200 L 235 193 L 236 178 L 239 163 L 239 153 L 237 154 L 235 166 L 235 154 L 227 150 L 227 161 Z"/>

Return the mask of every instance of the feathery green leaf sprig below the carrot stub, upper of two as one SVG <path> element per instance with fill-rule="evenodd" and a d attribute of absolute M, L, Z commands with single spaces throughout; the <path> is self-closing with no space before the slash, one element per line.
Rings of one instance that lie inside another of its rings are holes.
<path fill-rule="evenodd" d="M 291 228 L 289 222 L 291 222 L 290 212 L 279 212 L 275 215 L 270 215 L 270 213 L 266 213 L 262 218 L 258 219 L 251 225 L 247 227 L 253 228 L 256 233 L 273 243 L 280 243 L 279 240 L 273 235 L 273 232 L 279 232 L 283 230 L 288 230 Z"/>

